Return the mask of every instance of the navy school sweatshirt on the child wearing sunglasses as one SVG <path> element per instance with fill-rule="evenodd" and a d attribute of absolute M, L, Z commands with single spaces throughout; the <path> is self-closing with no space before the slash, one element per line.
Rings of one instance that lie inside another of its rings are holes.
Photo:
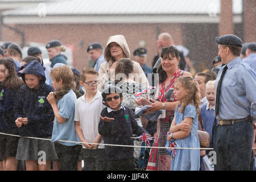
<path fill-rule="evenodd" d="M 123 109 L 125 108 L 125 109 Z M 133 134 L 148 133 L 140 127 L 134 117 L 133 111 L 126 106 L 118 111 L 108 113 L 108 107 L 101 111 L 102 117 L 114 118 L 110 122 L 100 120 L 98 133 L 103 136 L 106 144 L 121 144 L 133 146 Z M 119 160 L 133 158 L 133 147 L 105 146 L 107 160 Z"/>

